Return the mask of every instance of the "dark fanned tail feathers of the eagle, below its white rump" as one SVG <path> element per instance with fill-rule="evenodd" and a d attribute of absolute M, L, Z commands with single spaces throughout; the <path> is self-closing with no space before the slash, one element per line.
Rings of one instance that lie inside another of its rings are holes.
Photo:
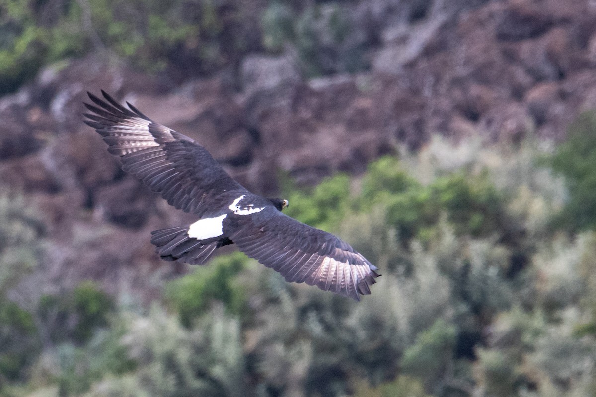
<path fill-rule="evenodd" d="M 151 232 L 151 243 L 157 246 L 156 252 L 163 260 L 187 262 L 202 265 L 216 249 L 231 244 L 228 237 L 215 237 L 198 240 L 188 236 L 188 226 L 172 227 Z"/>

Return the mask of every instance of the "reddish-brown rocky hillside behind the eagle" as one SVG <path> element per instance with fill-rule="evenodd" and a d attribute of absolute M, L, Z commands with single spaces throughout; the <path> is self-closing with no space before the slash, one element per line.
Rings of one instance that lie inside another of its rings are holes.
<path fill-rule="evenodd" d="M 271 194 L 280 174 L 307 184 L 358 174 L 434 134 L 562 140 L 579 112 L 596 107 L 596 7 L 588 0 L 343 7 L 349 40 L 367 43 L 369 66 L 358 73 L 306 79 L 291 46 L 191 79 L 142 74 L 98 52 L 46 67 L 1 98 L 0 179 L 42 218 L 48 285 L 91 277 L 111 290 L 124 279 L 147 286 L 147 274 L 164 268 L 148 233 L 184 217 L 122 173 L 82 123 L 86 91 L 133 103 L 206 146 L 246 187 Z"/>

